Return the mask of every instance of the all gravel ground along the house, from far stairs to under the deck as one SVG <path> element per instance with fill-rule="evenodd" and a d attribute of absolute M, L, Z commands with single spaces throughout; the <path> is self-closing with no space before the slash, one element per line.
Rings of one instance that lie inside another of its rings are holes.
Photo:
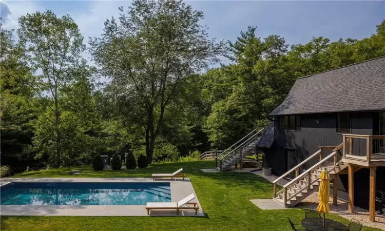
<path fill-rule="evenodd" d="M 252 172 L 255 175 L 258 175 L 260 177 L 265 178 L 266 180 L 273 182 L 275 181 L 278 177 L 271 175 L 271 176 L 264 176 L 262 174 L 262 170 L 256 170 L 256 168 L 244 168 L 242 170 L 240 169 L 233 169 L 231 171 L 236 171 L 236 172 Z M 285 185 L 288 181 L 287 180 L 279 180 L 278 185 Z M 371 222 L 369 220 L 369 210 L 359 208 L 354 206 L 354 213 L 348 213 L 348 202 L 338 200 L 337 205 L 333 205 L 332 201 L 333 198 L 329 198 L 329 206 L 330 206 L 330 212 L 332 214 L 337 214 L 341 216 L 342 218 L 345 218 L 347 220 L 351 219 L 356 219 L 357 221 L 361 222 L 364 226 L 369 226 L 373 228 L 379 228 L 382 230 L 385 230 L 385 216 L 376 214 L 376 222 Z M 309 197 L 305 198 L 301 203 L 297 205 L 298 207 L 301 208 L 309 208 L 316 210 L 318 206 L 318 192 L 314 192 L 312 195 Z"/>

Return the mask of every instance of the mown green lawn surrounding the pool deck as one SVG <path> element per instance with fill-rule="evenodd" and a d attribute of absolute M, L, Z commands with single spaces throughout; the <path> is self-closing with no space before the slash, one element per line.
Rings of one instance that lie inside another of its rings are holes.
<path fill-rule="evenodd" d="M 273 184 L 244 172 L 204 173 L 214 161 L 155 164 L 146 169 L 93 171 L 91 167 L 28 172 L 16 177 L 150 177 L 179 168 L 190 178 L 205 217 L 1 217 L 2 230 L 291 230 L 287 217 L 299 223 L 301 209 L 261 210 L 249 199 L 272 198 Z M 67 175 L 79 169 L 82 175 Z M 337 215 L 326 218 L 349 224 Z M 377 230 L 364 227 L 362 230 Z"/>

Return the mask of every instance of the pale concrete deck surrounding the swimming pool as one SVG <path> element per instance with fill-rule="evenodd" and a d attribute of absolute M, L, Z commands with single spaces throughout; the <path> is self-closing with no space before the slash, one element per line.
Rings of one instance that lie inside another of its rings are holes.
<path fill-rule="evenodd" d="M 0 205 L 1 216 L 204 216 L 197 195 L 190 182 L 185 178 L 168 180 L 152 178 L 2 178 L 0 185 L 8 182 L 119 182 L 119 183 L 157 183 L 169 182 L 171 202 L 178 202 L 190 194 L 195 195 L 191 202 L 199 205 L 198 215 L 194 210 L 151 210 L 147 215 L 146 205 Z"/>

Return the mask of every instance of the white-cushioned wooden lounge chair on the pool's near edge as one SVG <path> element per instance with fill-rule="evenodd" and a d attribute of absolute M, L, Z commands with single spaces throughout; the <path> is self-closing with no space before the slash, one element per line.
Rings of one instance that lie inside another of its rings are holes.
<path fill-rule="evenodd" d="M 195 210 L 195 215 L 198 214 L 199 205 L 197 202 L 190 202 L 195 198 L 194 194 L 190 194 L 189 196 L 183 198 L 179 202 L 147 202 L 146 209 L 147 214 L 150 215 L 151 209 L 177 209 L 177 214 L 179 214 L 179 209 L 189 209 Z M 183 207 L 183 205 L 187 205 Z M 188 207 L 188 205 L 194 205 L 194 207 Z"/>

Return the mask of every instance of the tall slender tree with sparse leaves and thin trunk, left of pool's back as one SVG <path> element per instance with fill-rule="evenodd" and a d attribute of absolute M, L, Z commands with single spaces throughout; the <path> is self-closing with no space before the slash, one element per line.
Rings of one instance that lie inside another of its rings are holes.
<path fill-rule="evenodd" d="M 25 64 L 34 76 L 23 76 L 44 104 L 41 116 L 55 131 L 55 167 L 61 165 L 61 97 L 62 89 L 75 81 L 73 69 L 79 66 L 85 50 L 83 36 L 69 15 L 56 17 L 52 11 L 21 16 L 17 30 L 25 50 Z M 48 110 L 47 114 L 45 110 Z M 53 114 L 53 117 L 50 115 Z"/>

